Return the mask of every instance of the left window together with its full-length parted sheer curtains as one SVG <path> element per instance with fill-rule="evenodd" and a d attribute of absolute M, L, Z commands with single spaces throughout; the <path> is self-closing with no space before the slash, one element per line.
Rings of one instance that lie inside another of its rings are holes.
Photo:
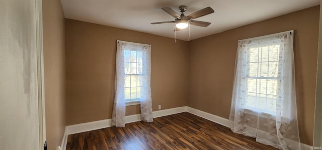
<path fill-rule="evenodd" d="M 116 41 L 115 98 L 112 126 L 125 126 L 125 108 L 140 104 L 143 121 L 152 122 L 151 46 Z"/>

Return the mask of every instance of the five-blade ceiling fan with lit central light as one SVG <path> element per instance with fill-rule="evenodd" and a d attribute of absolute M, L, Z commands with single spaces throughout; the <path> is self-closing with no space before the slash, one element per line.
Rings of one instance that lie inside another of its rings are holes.
<path fill-rule="evenodd" d="M 167 12 L 168 14 L 170 14 L 171 16 L 173 16 L 175 18 L 175 21 L 166 21 L 166 22 L 155 22 L 155 23 L 151 23 L 151 24 L 164 24 L 164 23 L 175 23 L 176 24 L 176 29 L 175 31 L 178 31 L 180 29 L 185 29 L 187 28 L 189 25 L 194 25 L 194 26 L 200 26 L 200 27 L 207 27 L 209 26 L 211 23 L 208 22 L 202 22 L 202 21 L 195 21 L 192 19 L 196 19 L 208 14 L 213 13 L 213 9 L 211 9 L 210 7 L 204 8 L 202 10 L 199 10 L 195 13 L 192 13 L 188 16 L 185 16 L 183 13 L 187 10 L 186 6 L 180 6 L 179 7 L 179 11 L 181 12 L 181 15 L 179 16 L 174 10 L 172 10 L 171 8 L 161 8 L 162 10 L 164 10 L 165 12 Z"/>

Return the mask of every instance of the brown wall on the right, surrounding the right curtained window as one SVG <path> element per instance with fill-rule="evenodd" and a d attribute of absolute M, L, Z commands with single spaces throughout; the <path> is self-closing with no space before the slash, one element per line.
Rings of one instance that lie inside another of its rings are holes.
<path fill-rule="evenodd" d="M 294 30 L 298 123 L 312 145 L 319 6 L 189 42 L 188 106 L 229 117 L 237 41 Z"/>

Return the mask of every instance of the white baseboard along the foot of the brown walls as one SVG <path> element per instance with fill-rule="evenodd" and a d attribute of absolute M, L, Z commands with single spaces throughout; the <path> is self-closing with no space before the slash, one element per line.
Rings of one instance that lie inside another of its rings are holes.
<path fill-rule="evenodd" d="M 153 111 L 152 115 L 153 118 L 157 117 L 162 117 L 162 116 L 167 116 L 167 115 L 172 115 L 172 114 L 177 114 L 181 112 L 189 112 L 194 115 L 200 116 L 202 118 L 205 118 L 207 120 L 210 120 L 212 122 L 221 124 L 223 126 L 229 127 L 229 120 L 226 118 L 219 117 L 217 115 L 204 112 L 189 106 L 183 106 L 183 107 L 176 107 L 176 108 L 171 108 L 171 109 L 164 109 L 164 110 L 158 110 L 158 111 Z M 129 115 L 125 116 L 125 122 L 130 123 L 130 122 L 136 122 L 136 121 L 141 121 L 141 114 L 134 114 L 134 115 Z M 65 135 L 62 140 L 61 148 L 66 149 L 66 144 L 67 144 L 67 136 L 69 134 L 75 134 L 75 133 L 81 133 L 81 132 L 86 132 L 86 131 L 91 131 L 91 130 L 96 130 L 96 129 L 101 129 L 101 128 L 106 128 L 106 127 L 111 127 L 111 119 L 105 119 L 105 120 L 99 120 L 99 121 L 93 121 L 93 122 L 87 122 L 87 123 L 80 123 L 80 124 L 74 124 L 74 125 L 68 125 L 65 128 Z M 304 150 L 312 150 L 313 146 L 301 143 L 301 149 Z"/>

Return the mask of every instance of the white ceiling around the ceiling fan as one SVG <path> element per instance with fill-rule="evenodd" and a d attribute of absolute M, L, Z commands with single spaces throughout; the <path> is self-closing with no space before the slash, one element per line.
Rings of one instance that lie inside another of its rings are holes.
<path fill-rule="evenodd" d="M 211 7 L 215 13 L 195 20 L 210 22 L 204 28 L 190 27 L 190 40 L 249 25 L 320 4 L 320 0 L 61 0 L 65 18 L 174 38 L 174 21 L 160 8 L 187 6 L 186 16 Z M 308 16 L 309 17 L 309 16 Z M 188 28 L 176 33 L 188 41 Z"/>

